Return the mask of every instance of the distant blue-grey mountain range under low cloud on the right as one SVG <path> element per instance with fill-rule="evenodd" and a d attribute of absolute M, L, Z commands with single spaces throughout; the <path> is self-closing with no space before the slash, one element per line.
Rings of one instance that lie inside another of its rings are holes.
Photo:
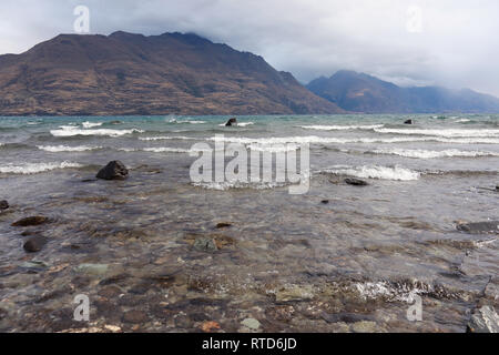
<path fill-rule="evenodd" d="M 367 113 L 499 112 L 499 99 L 471 90 L 400 88 L 353 71 L 313 80 L 308 90 L 344 110 Z"/>

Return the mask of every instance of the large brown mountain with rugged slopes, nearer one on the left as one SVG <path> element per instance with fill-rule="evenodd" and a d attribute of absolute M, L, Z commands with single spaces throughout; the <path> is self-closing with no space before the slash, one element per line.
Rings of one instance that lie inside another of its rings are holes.
<path fill-rule="evenodd" d="M 0 114 L 337 113 L 262 57 L 195 34 L 61 34 L 0 55 Z"/>

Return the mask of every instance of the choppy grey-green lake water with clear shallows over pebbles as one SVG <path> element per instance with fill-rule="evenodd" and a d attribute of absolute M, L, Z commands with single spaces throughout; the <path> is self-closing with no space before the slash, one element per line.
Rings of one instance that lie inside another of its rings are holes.
<path fill-rule="evenodd" d="M 498 305 L 497 230 L 457 225 L 499 220 L 499 115 L 227 119 L 0 118 L 0 331 L 464 332 Z M 193 184 L 216 134 L 309 143 L 309 192 Z M 129 179 L 94 180 L 112 160 Z M 49 222 L 11 225 L 32 215 Z"/>

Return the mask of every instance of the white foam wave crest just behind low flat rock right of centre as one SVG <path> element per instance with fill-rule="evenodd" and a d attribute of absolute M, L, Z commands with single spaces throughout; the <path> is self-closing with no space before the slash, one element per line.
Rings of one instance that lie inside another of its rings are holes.
<path fill-rule="evenodd" d="M 329 173 L 335 175 L 348 175 L 360 179 L 379 179 L 379 180 L 396 180 L 396 181 L 411 181 L 418 180 L 420 173 L 414 170 L 401 166 L 379 166 L 379 165 L 363 165 L 348 166 L 335 165 L 330 169 L 322 170 L 320 173 Z"/>

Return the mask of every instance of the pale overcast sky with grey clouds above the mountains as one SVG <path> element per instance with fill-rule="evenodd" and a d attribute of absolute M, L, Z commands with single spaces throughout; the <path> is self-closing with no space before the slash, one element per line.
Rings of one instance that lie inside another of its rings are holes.
<path fill-rule="evenodd" d="M 195 32 L 304 83 L 349 69 L 499 97 L 497 0 L 1 0 L 0 53 L 73 33 L 80 4 L 90 33 Z"/>

